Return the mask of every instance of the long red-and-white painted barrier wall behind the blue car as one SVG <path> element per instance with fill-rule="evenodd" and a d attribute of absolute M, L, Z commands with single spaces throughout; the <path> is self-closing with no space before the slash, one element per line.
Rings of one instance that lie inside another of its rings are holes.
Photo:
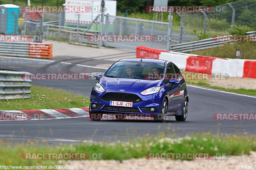
<path fill-rule="evenodd" d="M 256 78 L 256 60 L 193 55 L 143 46 L 137 47 L 136 57 L 171 61 L 181 70 L 190 72 L 206 74 L 225 73 L 228 74 L 229 77 Z"/>

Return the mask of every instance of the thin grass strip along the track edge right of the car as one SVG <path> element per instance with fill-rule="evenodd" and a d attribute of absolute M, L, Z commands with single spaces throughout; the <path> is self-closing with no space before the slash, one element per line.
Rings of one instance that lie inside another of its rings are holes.
<path fill-rule="evenodd" d="M 236 92 L 236 93 L 241 93 L 241 94 L 247 94 L 247 95 L 253 95 L 256 96 L 256 90 L 247 90 L 247 89 L 229 89 L 229 88 L 223 88 L 223 87 L 218 87 L 218 86 L 211 86 L 207 83 L 207 80 L 186 80 L 187 84 L 192 84 L 192 85 L 201 85 L 204 87 L 209 87 L 213 89 L 218 89 L 218 90 L 223 90 L 226 92 Z"/>

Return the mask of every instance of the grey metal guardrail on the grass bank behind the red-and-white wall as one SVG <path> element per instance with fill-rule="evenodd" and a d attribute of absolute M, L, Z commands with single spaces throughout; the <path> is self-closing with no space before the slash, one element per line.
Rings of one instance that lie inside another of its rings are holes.
<path fill-rule="evenodd" d="M 256 34 L 256 31 L 247 32 L 246 35 L 254 35 Z M 171 45 L 170 51 L 176 51 L 176 52 L 189 52 L 189 51 L 196 51 L 206 48 L 213 48 L 213 47 L 220 47 L 223 46 L 224 43 L 227 43 L 228 41 L 217 41 L 217 37 L 214 38 L 207 38 L 204 40 L 199 41 L 191 41 L 191 42 L 185 42 L 180 44 L 174 44 Z"/>

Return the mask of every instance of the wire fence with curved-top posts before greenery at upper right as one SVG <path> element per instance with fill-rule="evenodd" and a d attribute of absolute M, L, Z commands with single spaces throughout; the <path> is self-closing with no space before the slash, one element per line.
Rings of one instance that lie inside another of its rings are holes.
<path fill-rule="evenodd" d="M 208 13 L 180 13 L 187 34 L 195 35 L 194 30 L 208 35 L 228 34 L 227 29 L 234 25 L 245 25 L 256 29 L 256 1 L 239 0 L 213 7 Z"/>

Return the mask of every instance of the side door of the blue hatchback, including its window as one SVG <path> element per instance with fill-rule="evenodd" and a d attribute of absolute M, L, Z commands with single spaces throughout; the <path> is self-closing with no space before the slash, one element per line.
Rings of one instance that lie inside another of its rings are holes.
<path fill-rule="evenodd" d="M 168 92 L 168 98 L 169 98 L 169 103 L 168 103 L 168 112 L 174 112 L 177 111 L 179 107 L 179 101 L 175 97 L 175 93 L 179 91 L 178 85 L 170 85 L 169 80 L 171 78 L 175 78 L 175 72 L 173 69 L 172 64 L 167 65 L 166 69 L 166 75 L 165 75 L 165 89 Z"/>

